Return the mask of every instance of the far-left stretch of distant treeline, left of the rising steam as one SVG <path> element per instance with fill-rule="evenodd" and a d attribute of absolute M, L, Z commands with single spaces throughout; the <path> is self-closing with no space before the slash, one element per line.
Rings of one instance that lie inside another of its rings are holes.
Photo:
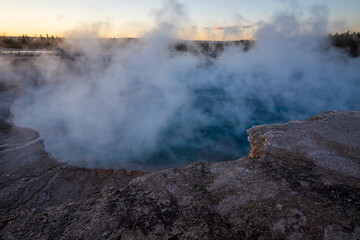
<path fill-rule="evenodd" d="M 20 37 L 0 36 L 0 48 L 17 49 L 54 49 L 60 46 L 63 38 L 51 35 L 29 37 L 22 35 Z"/>

